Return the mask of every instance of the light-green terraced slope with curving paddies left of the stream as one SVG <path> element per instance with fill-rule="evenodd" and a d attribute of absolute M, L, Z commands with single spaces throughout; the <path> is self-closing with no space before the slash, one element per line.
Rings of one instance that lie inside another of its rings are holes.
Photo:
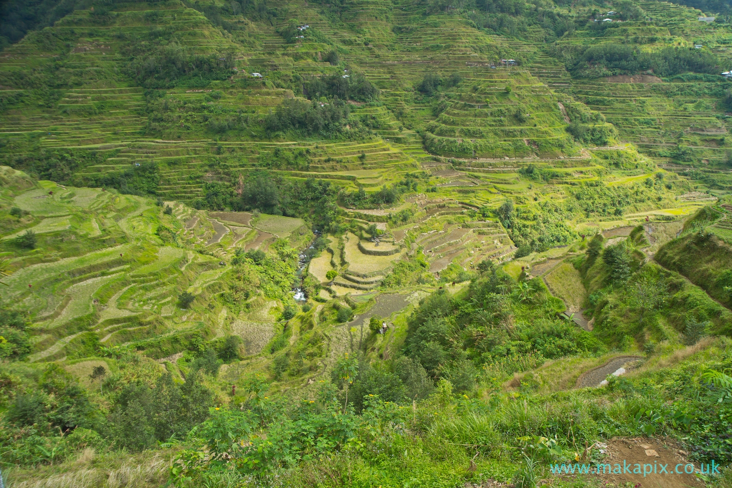
<path fill-rule="evenodd" d="M 15 271 L 4 280 L 4 298 L 29 314 L 30 361 L 83 356 L 100 346 L 129 342 L 142 342 L 166 356 L 193 337 L 217 337 L 236 328 L 238 320 L 210 301 L 232 273 L 222 258 L 235 245 L 247 250 L 273 244 L 277 249 L 302 247 L 311 235 L 300 219 L 230 217 L 182 205 L 168 206 L 171 211 L 165 213 L 152 200 L 113 190 L 41 181 L 19 192 L 13 184 L 18 175 L 4 170 L 12 188 L 5 201 L 22 213 L 6 222 L 15 227 L 3 239 L 6 263 Z M 29 232 L 37 239 L 30 252 L 13 244 Z M 253 306 L 247 306 L 261 315 L 261 327 L 270 334 L 275 318 L 266 311 L 275 302 L 267 299 L 290 294 L 293 259 L 281 265 L 292 266 L 291 276 L 263 277 L 261 286 L 271 283 L 269 297 L 253 293 Z M 181 309 L 176 297 L 183 292 L 192 293 L 203 312 Z M 261 340 L 266 343 L 269 337 Z M 250 353 L 261 346 L 253 345 Z"/>

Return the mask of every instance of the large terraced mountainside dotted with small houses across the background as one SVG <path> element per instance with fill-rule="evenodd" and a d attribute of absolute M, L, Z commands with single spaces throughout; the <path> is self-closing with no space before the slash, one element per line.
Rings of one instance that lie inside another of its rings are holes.
<path fill-rule="evenodd" d="M 332 240 L 311 264 L 321 297 L 678 219 L 703 205 L 692 190 L 727 189 L 728 82 L 703 63 L 727 62 L 732 33 L 698 10 L 537 7 L 511 14 L 526 24 L 511 30 L 490 12 L 401 1 L 87 7 L 4 50 L 0 158 L 176 212 L 304 218 Z M 587 61 L 617 46 L 646 64 L 692 48 L 679 56 L 701 72 Z M 186 222 L 191 245 L 221 252 L 270 234 Z"/>

